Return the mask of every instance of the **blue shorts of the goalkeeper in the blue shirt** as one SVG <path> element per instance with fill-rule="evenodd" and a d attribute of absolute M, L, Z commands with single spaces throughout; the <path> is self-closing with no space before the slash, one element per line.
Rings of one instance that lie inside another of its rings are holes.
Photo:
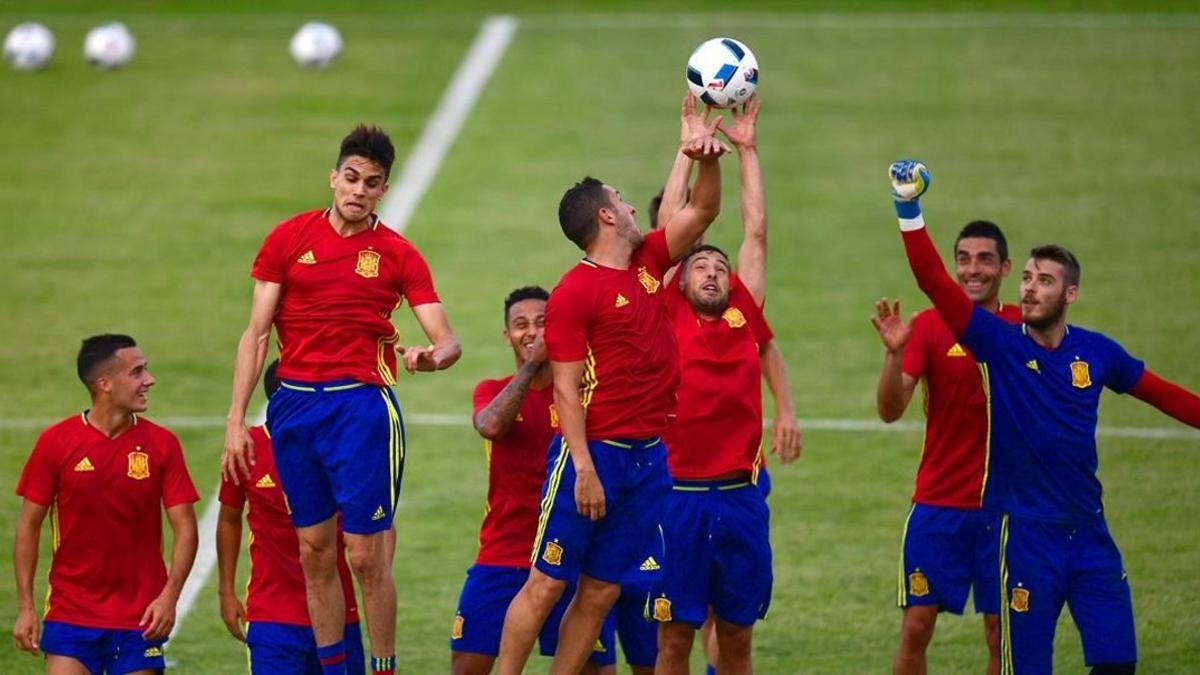
<path fill-rule="evenodd" d="M 1074 525 L 1001 516 L 1001 668 L 1050 673 L 1062 605 L 1084 643 L 1084 663 L 1134 663 L 1129 580 L 1103 516 Z"/>

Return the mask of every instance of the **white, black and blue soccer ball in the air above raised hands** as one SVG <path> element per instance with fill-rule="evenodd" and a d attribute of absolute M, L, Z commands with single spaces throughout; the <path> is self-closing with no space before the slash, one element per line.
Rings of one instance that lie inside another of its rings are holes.
<path fill-rule="evenodd" d="M 714 108 L 744 103 L 758 86 L 758 60 L 732 37 L 701 43 L 688 58 L 688 88 Z"/>

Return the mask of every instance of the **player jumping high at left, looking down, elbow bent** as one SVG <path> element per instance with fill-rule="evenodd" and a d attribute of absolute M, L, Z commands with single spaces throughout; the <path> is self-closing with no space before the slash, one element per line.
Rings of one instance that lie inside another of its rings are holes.
<path fill-rule="evenodd" d="M 404 466 L 404 426 L 391 386 L 400 335 L 392 311 L 408 300 L 431 345 L 403 350 L 409 372 L 442 370 L 462 353 L 416 249 L 374 215 L 395 149 L 379 129 L 358 126 L 329 174 L 334 203 L 276 226 L 251 275 L 250 324 L 238 342 L 222 476 L 248 479 L 254 461 L 246 406 L 280 341 L 281 389 L 268 428 L 300 539 L 308 616 L 322 665 L 344 673 L 346 605 L 337 578 L 337 515 L 362 587 L 376 673 L 396 669 L 396 586 L 391 533 Z"/>

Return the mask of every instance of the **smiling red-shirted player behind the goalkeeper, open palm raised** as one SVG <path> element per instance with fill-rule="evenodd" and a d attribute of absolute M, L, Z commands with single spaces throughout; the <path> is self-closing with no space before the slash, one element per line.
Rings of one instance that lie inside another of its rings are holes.
<path fill-rule="evenodd" d="M 971 301 L 1009 323 L 1020 307 L 1000 301 L 1000 286 L 1012 270 L 1008 240 L 989 221 L 968 222 L 954 241 L 954 271 Z M 880 419 L 895 422 L 924 381 L 925 438 L 917 488 L 905 520 L 898 579 L 904 609 L 893 671 L 925 673 L 925 650 L 940 611 L 962 614 L 973 590 L 984 615 L 988 673 L 1000 671 L 1000 608 L 996 542 L 982 510 L 988 461 L 988 401 L 971 352 L 958 342 L 936 309 L 911 322 L 900 301 L 875 304 L 871 323 L 883 341 L 883 368 L 876 393 Z"/>

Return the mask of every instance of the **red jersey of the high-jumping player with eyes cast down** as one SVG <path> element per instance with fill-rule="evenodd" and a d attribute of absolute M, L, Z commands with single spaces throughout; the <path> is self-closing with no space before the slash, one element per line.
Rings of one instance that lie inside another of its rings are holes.
<path fill-rule="evenodd" d="M 325 210 L 271 229 L 251 276 L 282 286 L 275 312 L 282 378 L 396 383 L 400 339 L 391 312 L 437 303 L 430 268 L 407 239 L 378 220 L 341 237 Z"/>

